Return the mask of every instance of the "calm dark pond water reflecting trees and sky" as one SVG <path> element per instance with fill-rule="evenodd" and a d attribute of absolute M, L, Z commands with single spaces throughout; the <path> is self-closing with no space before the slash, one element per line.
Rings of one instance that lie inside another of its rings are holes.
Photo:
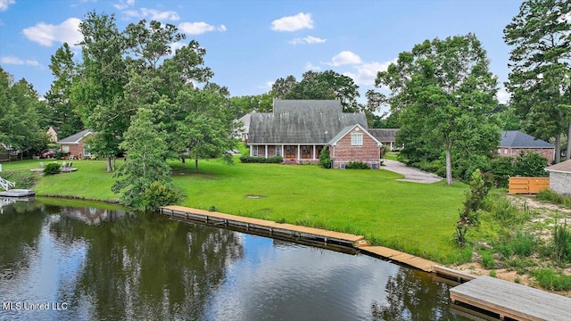
<path fill-rule="evenodd" d="M 448 303 L 448 285 L 368 256 L 121 210 L 0 213 L 0 320 L 462 319 Z"/>

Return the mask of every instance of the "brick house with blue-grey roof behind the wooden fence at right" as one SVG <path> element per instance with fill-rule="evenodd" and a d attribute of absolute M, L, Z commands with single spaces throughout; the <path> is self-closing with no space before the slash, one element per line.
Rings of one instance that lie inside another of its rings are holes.
<path fill-rule="evenodd" d="M 554 145 L 517 130 L 501 132 L 501 143 L 497 151 L 501 156 L 519 156 L 521 152 L 536 152 L 545 157 L 548 164 L 555 159 Z"/>

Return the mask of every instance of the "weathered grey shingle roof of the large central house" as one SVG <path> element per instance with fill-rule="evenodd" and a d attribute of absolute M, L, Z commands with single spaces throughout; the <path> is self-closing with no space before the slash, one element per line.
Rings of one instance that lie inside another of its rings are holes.
<path fill-rule="evenodd" d="M 327 144 L 343 128 L 360 124 L 364 113 L 345 113 L 338 100 L 275 100 L 271 113 L 252 112 L 249 144 Z"/>

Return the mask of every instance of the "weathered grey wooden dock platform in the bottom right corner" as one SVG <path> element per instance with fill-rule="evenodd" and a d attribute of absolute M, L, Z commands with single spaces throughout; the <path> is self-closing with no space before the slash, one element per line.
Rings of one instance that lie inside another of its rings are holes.
<path fill-rule="evenodd" d="M 478 276 L 472 281 L 451 288 L 450 297 L 454 303 L 490 311 L 500 319 L 571 319 L 571 298 L 491 276 Z"/>

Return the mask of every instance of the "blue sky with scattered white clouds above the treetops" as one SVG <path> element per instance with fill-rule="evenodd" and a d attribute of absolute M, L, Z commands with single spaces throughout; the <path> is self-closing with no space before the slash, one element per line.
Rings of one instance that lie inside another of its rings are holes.
<path fill-rule="evenodd" d="M 0 66 L 45 95 L 50 57 L 64 42 L 80 56 L 79 22 L 87 12 L 114 14 L 120 30 L 145 19 L 175 25 L 206 49 L 211 81 L 231 95 L 258 95 L 277 78 L 335 70 L 365 92 L 377 71 L 426 39 L 474 33 L 498 77 L 501 103 L 509 46 L 503 29 L 517 0 L 0 0 Z M 183 44 L 183 45 L 184 45 Z M 180 44 L 173 44 L 176 48 Z"/>

